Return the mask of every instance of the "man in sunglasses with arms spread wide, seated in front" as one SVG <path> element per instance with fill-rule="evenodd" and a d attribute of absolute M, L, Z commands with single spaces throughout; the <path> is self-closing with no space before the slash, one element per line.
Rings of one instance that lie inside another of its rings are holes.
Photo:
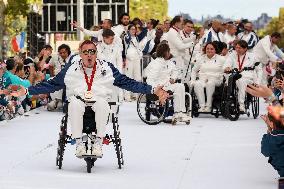
<path fill-rule="evenodd" d="M 113 85 L 134 93 L 156 94 L 162 103 L 168 98 L 168 93 L 161 87 L 137 82 L 122 75 L 110 62 L 96 57 L 96 45 L 85 40 L 79 47 L 80 55 L 71 64 L 65 66 L 53 79 L 24 88 L 12 86 L 11 95 L 37 95 L 58 91 L 66 87 L 69 101 L 68 118 L 70 121 L 72 138 L 76 139 L 76 156 L 102 156 L 102 139 L 105 136 L 106 124 L 110 108 L 108 100 L 111 98 Z M 93 102 L 91 109 L 95 112 L 96 139 L 93 150 L 86 151 L 82 141 L 83 115 L 86 103 Z M 90 154 L 91 153 L 91 154 Z"/>

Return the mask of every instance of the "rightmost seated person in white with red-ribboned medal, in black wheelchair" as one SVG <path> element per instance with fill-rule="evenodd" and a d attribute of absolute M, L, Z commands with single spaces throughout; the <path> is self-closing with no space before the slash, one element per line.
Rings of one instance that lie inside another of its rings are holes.
<path fill-rule="evenodd" d="M 224 72 L 228 73 L 232 69 L 237 69 L 241 72 L 241 78 L 237 79 L 236 86 L 238 88 L 238 103 L 240 112 L 245 112 L 245 96 L 246 87 L 249 84 L 260 84 L 262 78 L 262 69 L 256 66 L 254 70 L 245 70 L 245 67 L 254 67 L 256 59 L 248 50 L 248 43 L 240 40 L 236 43 L 235 51 L 233 51 L 226 59 L 224 64 Z"/>

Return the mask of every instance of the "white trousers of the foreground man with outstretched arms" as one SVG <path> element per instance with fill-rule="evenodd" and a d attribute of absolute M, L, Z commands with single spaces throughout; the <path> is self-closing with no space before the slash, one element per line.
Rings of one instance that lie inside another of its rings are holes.
<path fill-rule="evenodd" d="M 83 115 L 85 113 L 86 104 L 75 96 L 72 96 L 69 102 L 68 121 L 70 121 L 72 137 L 81 138 L 83 133 Z M 105 99 L 97 98 L 92 106 L 92 110 L 96 113 L 96 134 L 98 137 L 102 138 L 105 136 L 106 125 L 110 113 L 109 104 Z"/>

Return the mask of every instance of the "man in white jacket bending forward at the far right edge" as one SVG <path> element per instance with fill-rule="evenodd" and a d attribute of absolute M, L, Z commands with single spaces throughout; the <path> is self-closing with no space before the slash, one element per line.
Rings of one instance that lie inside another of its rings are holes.
<path fill-rule="evenodd" d="M 284 60 L 283 52 L 277 47 L 277 43 L 280 41 L 281 35 L 278 32 L 274 32 L 271 35 L 267 35 L 262 38 L 253 49 L 253 53 L 258 62 L 262 63 L 265 67 L 269 62 L 276 63 Z M 266 72 L 262 75 L 262 84 L 267 83 Z"/>

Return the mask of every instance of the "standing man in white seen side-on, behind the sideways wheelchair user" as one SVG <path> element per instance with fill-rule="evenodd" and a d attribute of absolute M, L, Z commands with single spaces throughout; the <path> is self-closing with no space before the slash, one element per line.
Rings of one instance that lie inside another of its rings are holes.
<path fill-rule="evenodd" d="M 188 41 L 184 43 L 182 41 L 180 30 L 182 29 L 183 18 L 181 16 L 175 16 L 171 21 L 171 28 L 167 33 L 167 41 L 171 49 L 171 53 L 175 59 L 176 66 L 180 72 L 180 79 L 183 79 L 185 76 L 186 66 L 184 65 L 184 51 L 185 49 L 191 48 L 194 46 L 194 42 Z"/>

